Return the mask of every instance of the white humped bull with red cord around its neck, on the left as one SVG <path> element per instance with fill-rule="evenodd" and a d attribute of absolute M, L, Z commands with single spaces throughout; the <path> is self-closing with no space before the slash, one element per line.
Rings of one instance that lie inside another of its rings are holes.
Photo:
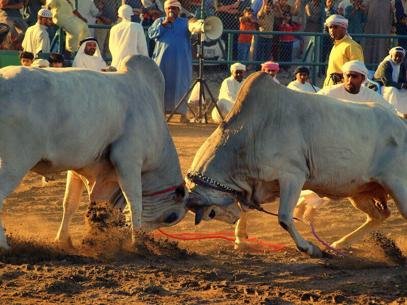
<path fill-rule="evenodd" d="M 87 179 L 92 201 L 126 200 L 133 241 L 141 228 L 178 223 L 187 192 L 163 101 L 163 75 L 142 55 L 126 57 L 115 73 L 0 70 L 0 208 L 28 170 L 45 177 L 75 170 Z M 77 174 L 69 172 L 67 182 L 56 237 L 64 242 L 83 190 Z M 8 247 L 3 230 L 0 246 Z"/>

